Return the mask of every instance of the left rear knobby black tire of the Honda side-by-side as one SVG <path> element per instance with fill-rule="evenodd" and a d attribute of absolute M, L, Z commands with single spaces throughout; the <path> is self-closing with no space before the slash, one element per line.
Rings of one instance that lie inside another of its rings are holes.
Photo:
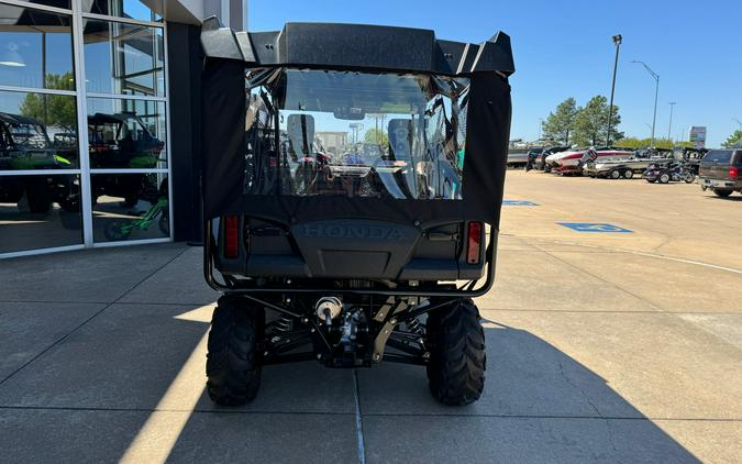
<path fill-rule="evenodd" d="M 215 404 L 240 406 L 257 396 L 264 327 L 263 308 L 244 298 L 219 299 L 207 354 L 207 390 Z"/>

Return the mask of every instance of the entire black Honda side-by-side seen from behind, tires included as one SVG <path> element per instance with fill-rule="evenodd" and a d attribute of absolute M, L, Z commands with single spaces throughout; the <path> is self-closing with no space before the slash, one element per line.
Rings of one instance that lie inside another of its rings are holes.
<path fill-rule="evenodd" d="M 204 276 L 223 292 L 207 389 L 255 398 L 262 366 L 425 366 L 443 404 L 484 388 L 472 298 L 495 275 L 510 40 L 288 23 L 201 32 Z"/>

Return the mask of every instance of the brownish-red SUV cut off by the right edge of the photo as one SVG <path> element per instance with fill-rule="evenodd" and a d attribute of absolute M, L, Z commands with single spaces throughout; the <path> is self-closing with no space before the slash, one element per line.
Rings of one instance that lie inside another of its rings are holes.
<path fill-rule="evenodd" d="M 702 190 L 711 189 L 718 197 L 742 192 L 742 148 L 711 150 L 699 166 Z"/>

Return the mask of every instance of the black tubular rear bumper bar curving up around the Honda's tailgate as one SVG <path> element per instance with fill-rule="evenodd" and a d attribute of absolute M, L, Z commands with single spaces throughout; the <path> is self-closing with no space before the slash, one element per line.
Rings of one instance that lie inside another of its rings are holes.
<path fill-rule="evenodd" d="M 262 287 L 240 287 L 235 285 L 224 285 L 219 283 L 213 275 L 213 268 L 214 268 L 214 263 L 213 263 L 213 246 L 215 245 L 214 243 L 214 236 L 212 233 L 212 220 L 207 220 L 204 221 L 206 227 L 203 231 L 203 236 L 204 236 L 204 244 L 203 244 L 203 277 L 209 285 L 209 287 L 213 288 L 217 291 L 221 291 L 224 294 L 236 294 L 236 295 L 246 295 L 250 297 L 247 294 L 263 294 L 263 295 L 276 295 L 276 294 L 334 294 L 334 295 L 380 295 L 380 296 L 395 296 L 395 297 L 451 297 L 451 298 L 476 298 L 485 295 L 487 291 L 492 288 L 492 284 L 495 283 L 495 264 L 496 264 L 496 255 L 495 255 L 495 250 L 496 250 L 496 244 L 497 244 L 497 237 L 498 237 L 498 230 L 495 229 L 494 227 L 490 227 L 489 229 L 489 243 L 487 245 L 487 250 L 485 252 L 485 264 L 487 266 L 487 274 L 486 274 L 486 279 L 485 283 L 479 287 L 479 288 L 470 288 L 473 287 L 477 281 L 481 280 L 470 280 L 468 285 L 462 286 L 461 288 L 457 288 L 456 290 L 435 290 L 435 289 L 425 289 L 425 290 L 420 290 L 416 289 L 412 287 L 397 287 L 397 288 L 390 288 L 388 290 L 384 289 L 367 289 L 367 288 L 359 288 L 359 289 L 353 289 L 353 288 L 298 288 L 298 287 L 290 287 L 290 286 L 281 286 L 281 287 L 270 287 L 270 288 L 262 288 Z M 256 299 L 257 300 L 257 299 Z M 261 301 L 261 300 L 257 300 Z M 261 301 L 265 303 L 265 301 Z M 273 305 L 270 305 L 273 307 Z M 277 310 L 280 310 L 283 312 L 287 312 L 287 310 L 276 307 Z"/>

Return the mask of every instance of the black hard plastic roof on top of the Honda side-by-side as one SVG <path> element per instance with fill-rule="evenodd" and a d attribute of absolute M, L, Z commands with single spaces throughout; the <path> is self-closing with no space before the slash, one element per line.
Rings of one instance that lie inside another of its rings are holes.
<path fill-rule="evenodd" d="M 281 31 L 235 33 L 212 16 L 203 22 L 201 44 L 208 57 L 251 67 L 505 76 L 516 70 L 510 37 L 502 32 L 481 44 L 439 40 L 423 29 L 364 24 L 286 23 Z"/>

